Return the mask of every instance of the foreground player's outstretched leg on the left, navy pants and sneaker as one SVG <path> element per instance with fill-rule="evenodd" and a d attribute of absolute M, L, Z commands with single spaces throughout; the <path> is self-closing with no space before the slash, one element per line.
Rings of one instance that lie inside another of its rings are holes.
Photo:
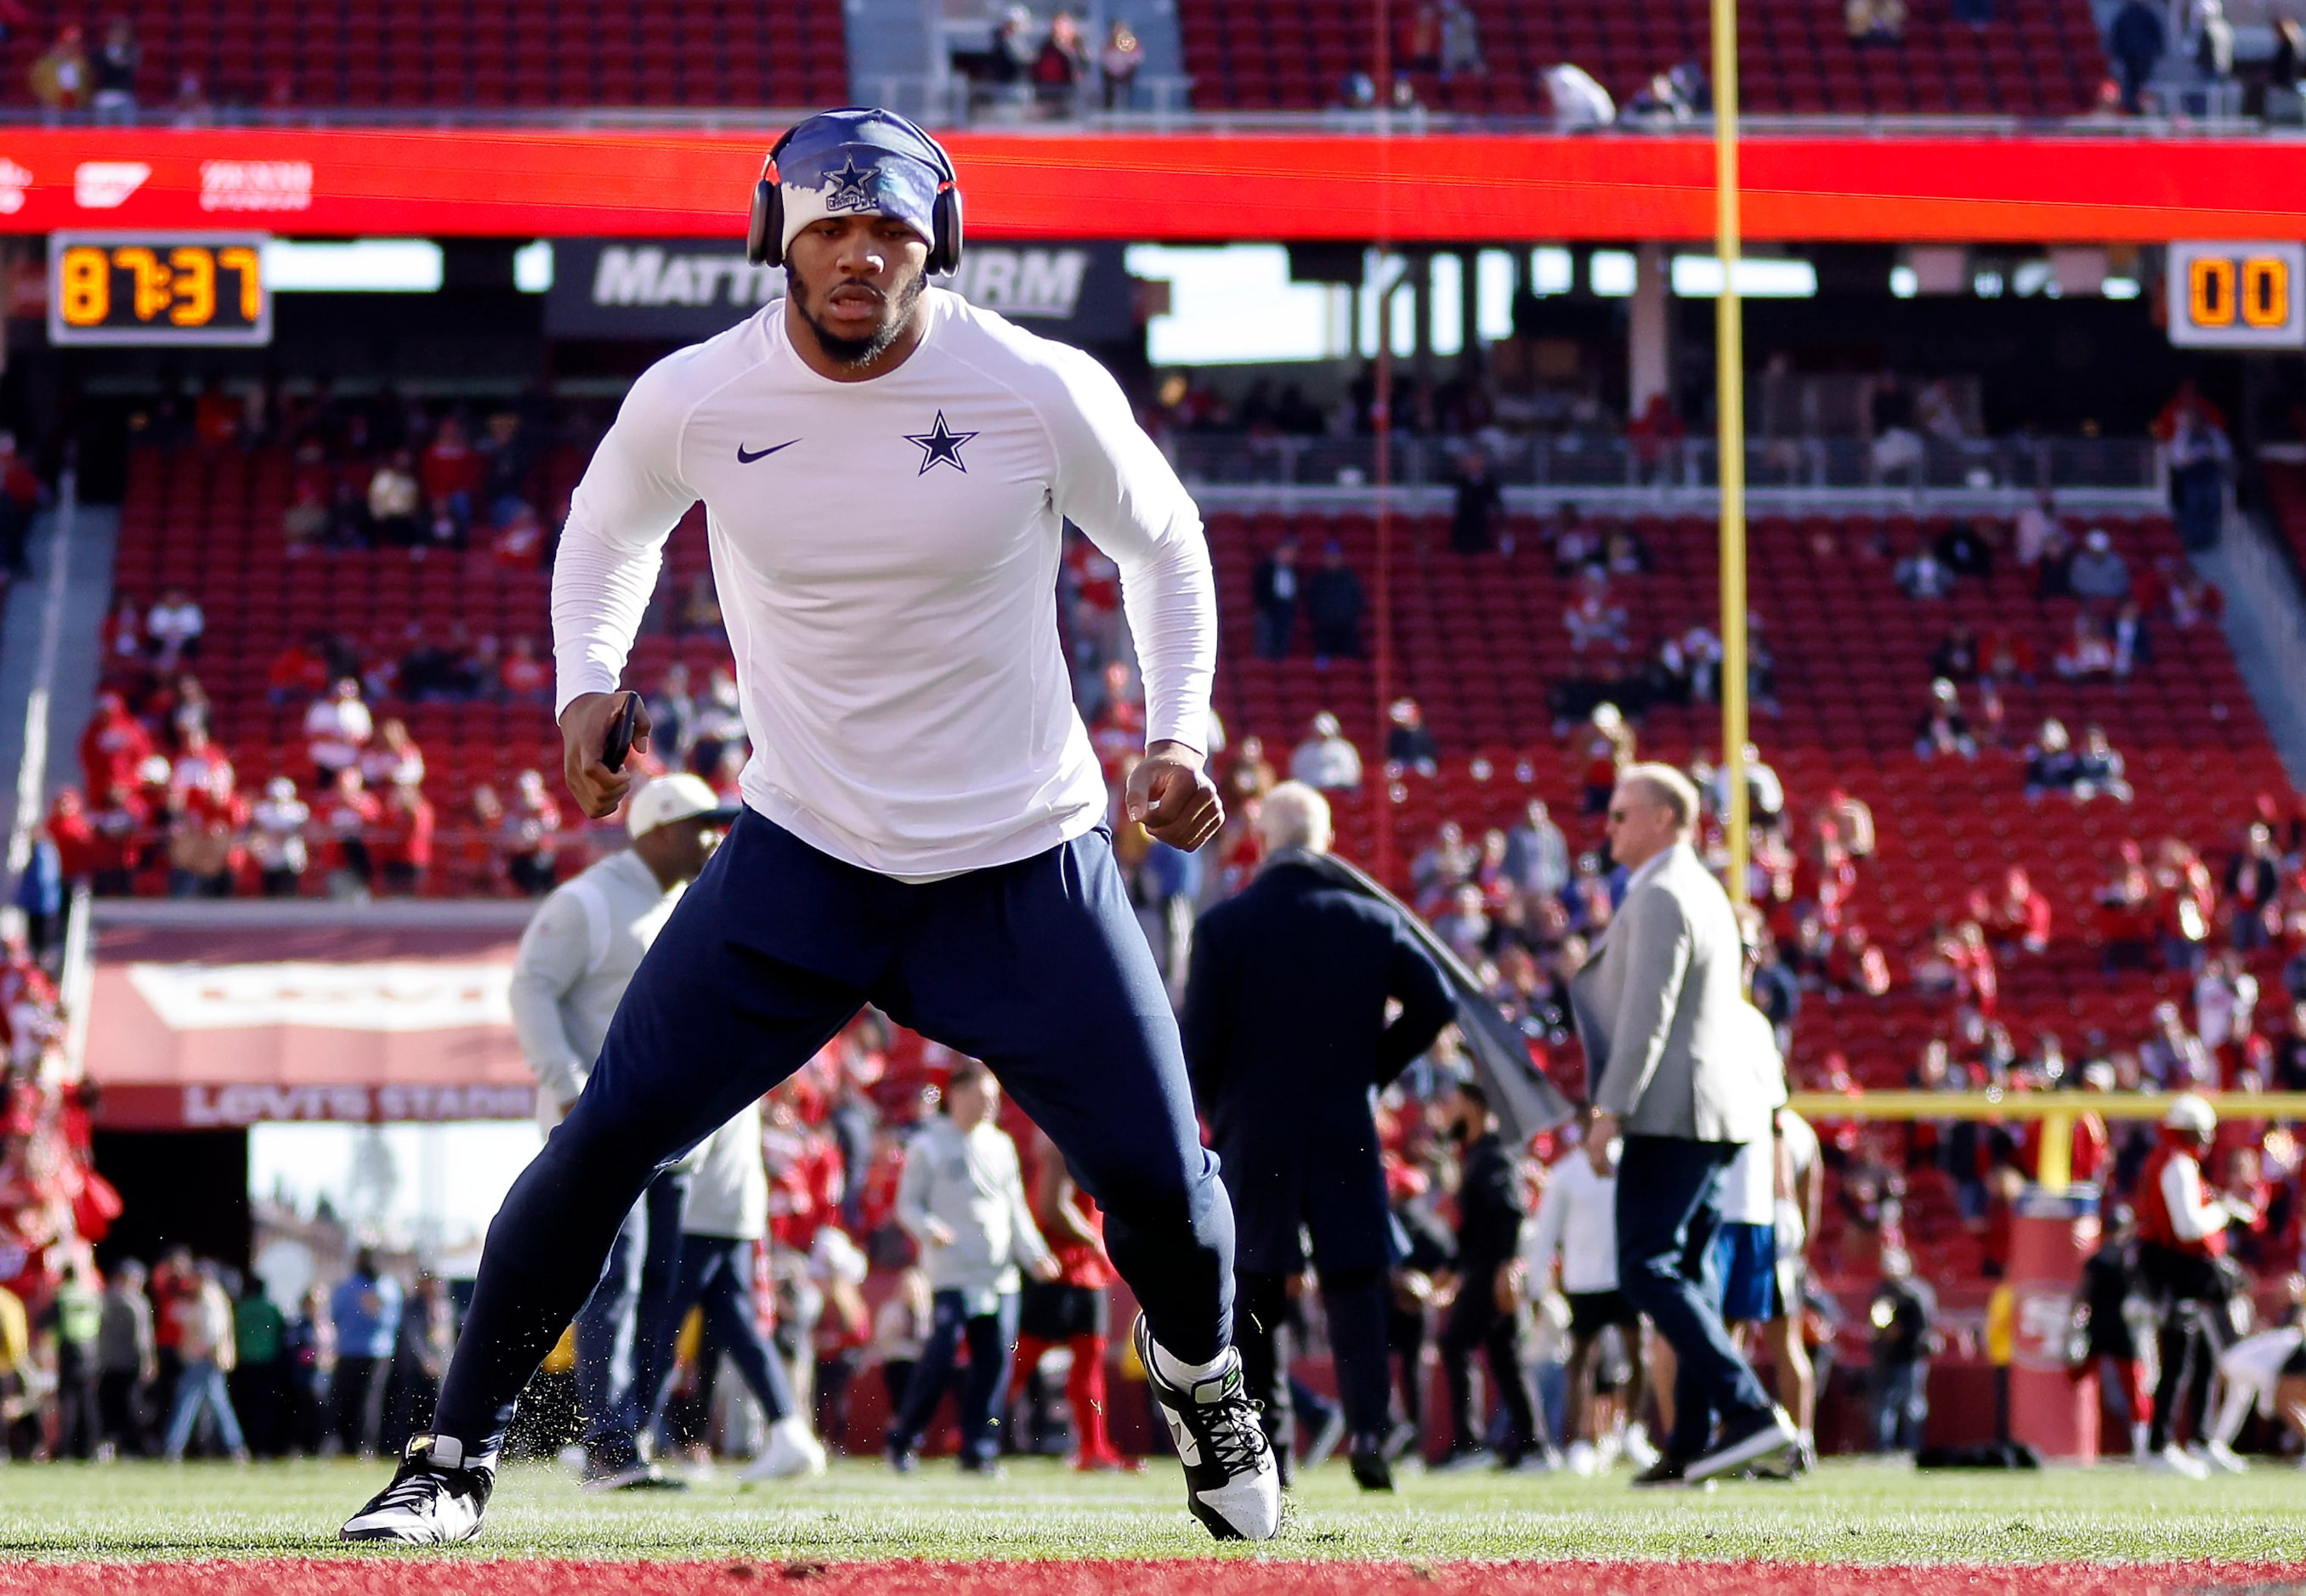
<path fill-rule="evenodd" d="M 600 1063 L 489 1225 L 434 1435 L 346 1527 L 443 1543 L 480 1529 L 521 1388 L 600 1280 L 634 1199 L 862 1006 L 886 955 L 881 876 L 743 814 L 641 962 Z"/>

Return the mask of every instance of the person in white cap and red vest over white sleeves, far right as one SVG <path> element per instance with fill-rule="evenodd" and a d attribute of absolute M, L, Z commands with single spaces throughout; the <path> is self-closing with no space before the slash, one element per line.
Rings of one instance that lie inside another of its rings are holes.
<path fill-rule="evenodd" d="M 2225 1227 L 2251 1220 L 2248 1204 L 2202 1190 L 2202 1158 L 2218 1132 L 2218 1112 L 2200 1093 L 2179 1093 L 2138 1172 L 2138 1271 L 2161 1305 L 2161 1384 L 2145 1467 L 2207 1478 L 2211 1467 L 2237 1471 L 2223 1446 L 2195 1455 L 2179 1446 L 2181 1418 L 2200 1430 L 2209 1418 L 2209 1379 L 2225 1345 Z M 2200 1439 L 2200 1437 L 2198 1437 Z"/>

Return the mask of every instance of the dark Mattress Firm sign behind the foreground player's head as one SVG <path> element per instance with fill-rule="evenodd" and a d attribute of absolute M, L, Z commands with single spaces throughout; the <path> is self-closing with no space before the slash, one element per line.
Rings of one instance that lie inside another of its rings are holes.
<path fill-rule="evenodd" d="M 1109 344 L 1130 337 L 1121 244 L 971 244 L 962 270 L 934 279 L 1045 337 Z M 784 272 L 752 265 L 740 244 L 696 240 L 560 240 L 544 330 L 565 339 L 694 341 L 784 295 Z"/>

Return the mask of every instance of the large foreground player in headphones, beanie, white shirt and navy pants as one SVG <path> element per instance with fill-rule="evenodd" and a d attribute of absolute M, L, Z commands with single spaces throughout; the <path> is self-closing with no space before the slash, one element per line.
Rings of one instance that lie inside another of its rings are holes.
<path fill-rule="evenodd" d="M 786 298 L 650 367 L 553 563 L 565 777 L 606 816 L 620 690 L 664 540 L 706 505 L 752 756 L 743 812 L 618 1006 L 583 1093 L 489 1229 L 436 1435 L 348 1538 L 480 1529 L 514 1402 L 653 1174 L 865 1003 L 985 1059 L 1107 1213 L 1135 1342 L 1220 1538 L 1280 1525 L 1231 1347 L 1231 1209 L 1176 1019 L 1105 830 L 1056 630 L 1070 519 L 1121 567 L 1146 752 L 1123 814 L 1181 851 L 1201 770 L 1215 581 L 1199 512 L 1088 355 L 929 286 L 962 258 L 950 157 L 888 111 L 770 150 L 747 254 Z"/>

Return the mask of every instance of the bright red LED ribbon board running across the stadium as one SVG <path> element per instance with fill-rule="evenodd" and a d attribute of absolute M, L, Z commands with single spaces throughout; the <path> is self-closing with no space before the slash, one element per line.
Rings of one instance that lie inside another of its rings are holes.
<path fill-rule="evenodd" d="M 779 129 L 0 129 L 0 231 L 726 238 Z M 955 134 L 982 238 L 1704 240 L 1704 138 Z M 2306 145 L 1753 138 L 1746 233 L 1849 242 L 2306 238 Z"/>

